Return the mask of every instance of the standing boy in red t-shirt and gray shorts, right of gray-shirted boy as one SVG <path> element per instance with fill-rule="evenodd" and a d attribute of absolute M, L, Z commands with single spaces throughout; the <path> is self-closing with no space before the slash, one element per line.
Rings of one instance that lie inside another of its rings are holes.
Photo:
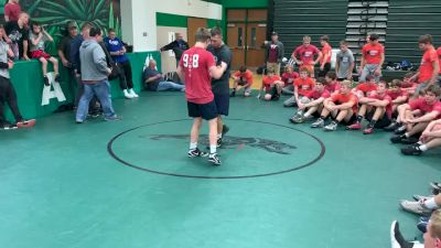
<path fill-rule="evenodd" d="M 385 47 L 378 43 L 378 34 L 372 33 L 369 36 L 369 43 L 362 48 L 362 62 L 359 65 L 359 79 L 358 82 L 365 82 L 367 75 L 374 75 L 375 82 L 379 82 L 381 76 L 381 66 L 385 62 Z"/>

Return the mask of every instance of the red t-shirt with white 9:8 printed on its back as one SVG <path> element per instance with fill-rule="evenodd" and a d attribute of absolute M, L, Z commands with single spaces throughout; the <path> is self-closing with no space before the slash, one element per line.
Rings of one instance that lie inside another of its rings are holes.
<path fill-rule="evenodd" d="M 193 46 L 182 54 L 179 66 L 185 72 L 185 97 L 194 104 L 208 104 L 214 100 L 209 68 L 216 66 L 213 54 L 202 47 Z"/>

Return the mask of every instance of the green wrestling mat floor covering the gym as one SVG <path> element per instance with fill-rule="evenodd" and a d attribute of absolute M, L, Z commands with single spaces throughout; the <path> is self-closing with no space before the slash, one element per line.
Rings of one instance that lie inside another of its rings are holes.
<path fill-rule="evenodd" d="M 394 219 L 421 238 L 398 201 L 439 181 L 439 150 L 294 126 L 284 98 L 255 96 L 232 98 L 218 168 L 186 157 L 181 93 L 115 100 L 117 122 L 63 112 L 1 132 L 0 247 L 389 247 Z"/>

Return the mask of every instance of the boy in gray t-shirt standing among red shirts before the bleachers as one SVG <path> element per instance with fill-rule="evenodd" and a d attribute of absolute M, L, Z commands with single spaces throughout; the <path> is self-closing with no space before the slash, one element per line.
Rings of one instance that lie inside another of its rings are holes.
<path fill-rule="evenodd" d="M 346 41 L 340 42 L 340 52 L 336 56 L 335 73 L 338 80 L 352 80 L 352 72 L 354 71 L 355 61 L 352 51 L 347 47 Z"/>

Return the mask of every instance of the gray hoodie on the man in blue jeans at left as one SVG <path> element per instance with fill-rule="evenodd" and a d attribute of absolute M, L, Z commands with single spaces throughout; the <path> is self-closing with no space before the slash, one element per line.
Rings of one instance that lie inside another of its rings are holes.
<path fill-rule="evenodd" d="M 86 40 L 79 47 L 82 80 L 107 79 L 106 54 L 95 39 Z"/>

